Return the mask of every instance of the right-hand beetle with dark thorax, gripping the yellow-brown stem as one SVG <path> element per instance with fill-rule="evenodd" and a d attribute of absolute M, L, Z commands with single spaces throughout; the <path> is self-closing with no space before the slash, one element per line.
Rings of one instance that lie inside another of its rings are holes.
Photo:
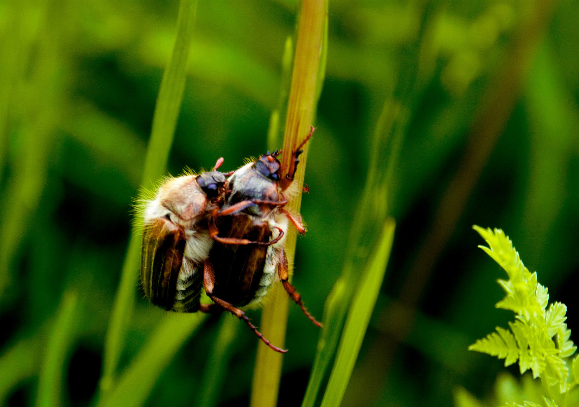
<path fill-rule="evenodd" d="M 288 224 L 304 234 L 301 216 L 284 209 L 284 192 L 291 186 L 301 148 L 312 136 L 314 128 L 294 153 L 285 177 L 281 176 L 280 154 L 269 152 L 233 172 L 222 209 L 214 209 L 221 217 L 213 217 L 209 234 L 215 240 L 203 265 L 203 286 L 212 308 L 227 310 L 237 316 L 271 349 L 285 353 L 270 343 L 251 324 L 241 309 L 259 304 L 277 277 L 285 291 L 306 316 L 318 327 L 321 324 L 307 312 L 301 295 L 288 281 L 288 261 L 284 236 Z"/>

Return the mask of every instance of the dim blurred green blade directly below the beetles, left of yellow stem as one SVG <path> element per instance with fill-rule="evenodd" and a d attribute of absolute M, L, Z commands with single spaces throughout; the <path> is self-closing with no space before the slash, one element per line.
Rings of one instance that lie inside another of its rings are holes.
<path fill-rule="evenodd" d="M 212 407 L 217 404 L 219 389 L 222 388 L 227 372 L 231 345 L 241 326 L 239 320 L 232 317 L 223 317 L 219 327 L 219 334 L 207 359 L 203 372 L 203 382 L 199 389 L 199 396 L 195 399 L 197 407 Z"/>

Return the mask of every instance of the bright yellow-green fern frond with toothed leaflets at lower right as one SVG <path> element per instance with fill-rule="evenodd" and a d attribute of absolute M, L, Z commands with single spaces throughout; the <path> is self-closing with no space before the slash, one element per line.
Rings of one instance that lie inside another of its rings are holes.
<path fill-rule="evenodd" d="M 507 272 L 508 280 L 498 280 L 505 297 L 497 302 L 496 308 L 514 312 L 515 321 L 508 324 L 510 330 L 497 327 L 496 332 L 479 339 L 468 349 L 504 358 L 505 366 L 518 361 L 521 374 L 530 370 L 534 379 L 540 378 L 545 386 L 557 387 L 560 393 L 565 393 L 579 384 L 578 359 L 573 360 L 571 368 L 565 361 L 577 350 L 565 323 L 567 307 L 561 302 L 548 306 L 547 287 L 538 283 L 536 272 L 531 273 L 523 265 L 502 230 L 473 228 L 489 245 L 479 247 Z M 554 403 L 545 399 L 548 407 Z"/>

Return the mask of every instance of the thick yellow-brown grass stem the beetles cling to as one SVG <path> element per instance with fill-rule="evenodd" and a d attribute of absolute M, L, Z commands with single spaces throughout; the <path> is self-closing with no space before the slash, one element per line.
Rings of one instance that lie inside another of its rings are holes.
<path fill-rule="evenodd" d="M 285 121 L 283 156 L 281 165 L 290 167 L 292 151 L 309 133 L 310 125 L 316 110 L 316 86 L 320 56 L 323 43 L 324 22 L 327 17 L 327 1 L 303 1 L 299 14 L 299 28 L 294 54 L 290 98 Z M 307 147 L 303 148 L 300 165 L 295 174 L 295 184 L 301 186 L 305 175 Z M 299 213 L 302 189 L 288 200 L 288 209 Z M 290 229 L 287 234 L 285 250 L 290 270 L 294 265 L 296 231 Z M 283 346 L 287 328 L 288 298 L 281 293 L 280 284 L 273 288 L 272 300 L 262 313 L 261 332 L 276 346 Z M 281 294 L 281 295 L 277 295 Z M 267 407 L 277 404 L 277 395 L 281 378 L 282 355 L 272 352 L 266 346 L 259 346 L 255 359 L 254 378 L 251 391 L 251 406 Z"/>

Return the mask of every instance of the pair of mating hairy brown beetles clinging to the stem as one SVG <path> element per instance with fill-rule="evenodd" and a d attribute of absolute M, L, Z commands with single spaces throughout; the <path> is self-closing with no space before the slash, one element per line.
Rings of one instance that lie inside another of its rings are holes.
<path fill-rule="evenodd" d="M 305 233 L 301 216 L 284 209 L 301 147 L 282 177 L 278 152 L 269 152 L 231 173 L 212 171 L 168 179 L 146 203 L 141 284 L 152 304 L 175 312 L 229 311 L 272 345 L 240 308 L 258 304 L 278 278 L 306 316 L 288 282 L 284 235 L 291 222 Z M 226 177 L 229 177 L 226 179 Z M 214 304 L 201 304 L 201 287 Z"/>

